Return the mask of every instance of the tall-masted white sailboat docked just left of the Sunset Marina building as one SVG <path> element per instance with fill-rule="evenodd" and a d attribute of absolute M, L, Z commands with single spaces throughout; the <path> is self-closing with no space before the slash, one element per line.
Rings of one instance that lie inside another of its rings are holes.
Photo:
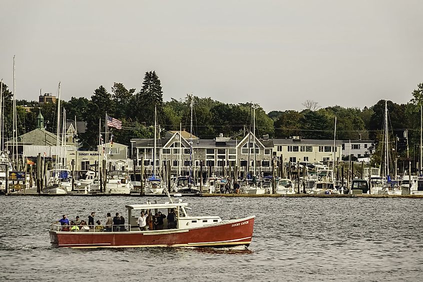
<path fill-rule="evenodd" d="M 53 169 L 46 172 L 47 185 L 43 188 L 43 193 L 51 194 L 67 194 L 72 190 L 71 171 L 64 166 L 62 161 L 62 154 L 64 151 L 62 138 L 62 146 L 60 145 L 59 136 L 61 134 L 61 107 L 60 107 L 60 82 L 59 95 L 57 99 L 57 136 L 56 136 L 56 164 Z"/>

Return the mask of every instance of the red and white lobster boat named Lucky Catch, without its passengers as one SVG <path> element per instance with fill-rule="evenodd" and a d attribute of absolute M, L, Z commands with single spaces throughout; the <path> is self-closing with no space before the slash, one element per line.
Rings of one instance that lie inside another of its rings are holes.
<path fill-rule="evenodd" d="M 250 245 L 255 216 L 226 221 L 218 216 L 189 216 L 187 209 L 190 208 L 187 205 L 181 200 L 178 203 L 126 205 L 129 224 L 110 228 L 115 230 L 118 227 L 119 231 L 108 232 L 96 228 L 90 231 L 65 231 L 60 223 L 55 223 L 50 228 L 50 242 L 57 247 L 71 248 Z M 176 228 L 169 229 L 166 219 L 161 230 L 140 230 L 138 227 L 137 219 L 141 211 L 150 210 L 153 214 L 161 211 L 166 215 L 171 209 L 176 213 Z"/>

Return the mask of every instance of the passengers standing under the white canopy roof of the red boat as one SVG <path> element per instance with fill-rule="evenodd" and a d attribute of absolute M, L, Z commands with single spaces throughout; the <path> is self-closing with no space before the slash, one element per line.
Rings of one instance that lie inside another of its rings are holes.
<path fill-rule="evenodd" d="M 167 219 L 167 228 L 176 228 L 176 211 L 174 208 L 169 210 L 168 215 L 164 215 L 161 211 L 156 214 L 152 214 L 151 210 L 141 211 L 141 215 L 138 217 L 137 223 L 140 230 L 162 230 L 164 229 L 164 219 Z"/>

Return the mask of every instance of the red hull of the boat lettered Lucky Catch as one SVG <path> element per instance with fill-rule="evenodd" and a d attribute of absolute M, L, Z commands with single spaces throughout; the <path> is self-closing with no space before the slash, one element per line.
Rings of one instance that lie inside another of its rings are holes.
<path fill-rule="evenodd" d="M 70 232 L 50 230 L 50 242 L 57 247 L 228 247 L 249 245 L 254 216 L 191 229 L 124 232 Z"/>

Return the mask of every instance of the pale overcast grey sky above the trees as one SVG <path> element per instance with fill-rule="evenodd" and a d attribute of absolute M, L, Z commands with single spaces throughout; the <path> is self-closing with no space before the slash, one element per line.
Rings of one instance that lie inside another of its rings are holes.
<path fill-rule="evenodd" d="M 141 88 L 266 112 L 406 103 L 423 82 L 423 1 L 5 1 L 0 78 L 18 99 Z"/>

